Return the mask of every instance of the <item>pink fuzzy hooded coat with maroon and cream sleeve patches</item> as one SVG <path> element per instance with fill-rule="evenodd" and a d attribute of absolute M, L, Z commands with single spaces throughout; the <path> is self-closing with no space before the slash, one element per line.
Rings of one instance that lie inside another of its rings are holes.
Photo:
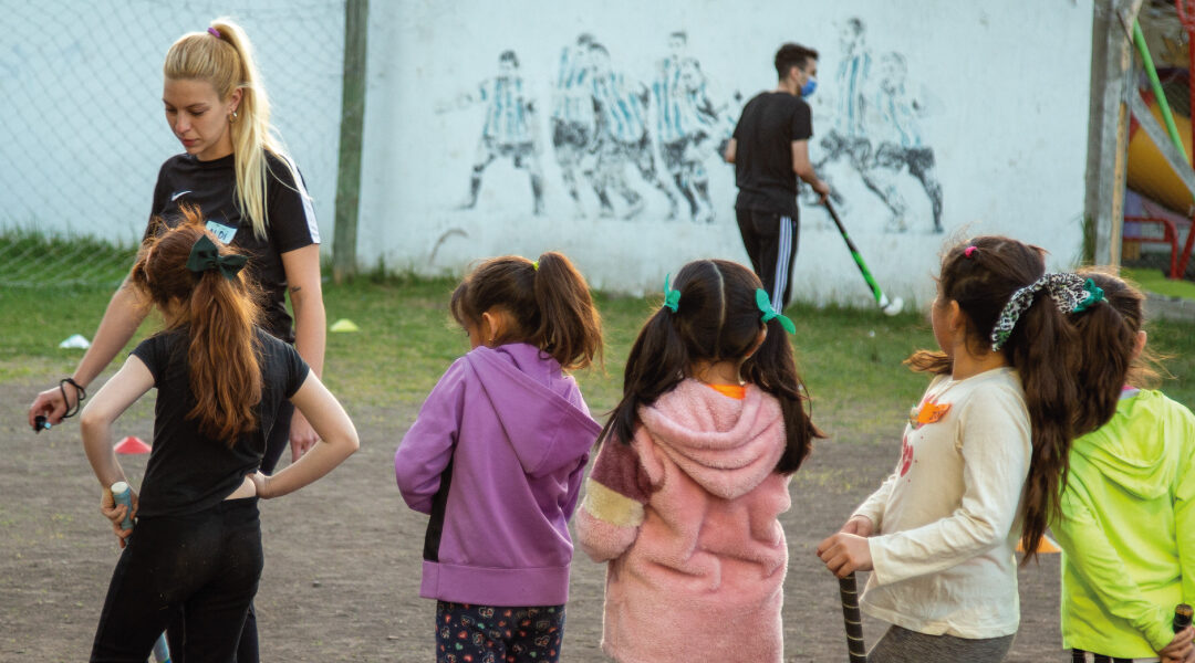
<path fill-rule="evenodd" d="M 598 452 L 577 518 L 581 546 L 609 562 L 602 650 L 620 663 L 780 663 L 779 402 L 684 380 L 638 415 L 630 445 Z"/>

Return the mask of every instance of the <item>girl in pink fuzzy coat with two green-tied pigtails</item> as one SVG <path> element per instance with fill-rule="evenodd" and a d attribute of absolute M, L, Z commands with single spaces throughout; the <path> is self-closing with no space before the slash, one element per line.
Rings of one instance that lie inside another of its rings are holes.
<path fill-rule="evenodd" d="M 577 515 L 609 562 L 602 650 L 621 663 L 779 662 L 778 515 L 814 438 L 788 334 L 759 279 L 690 262 L 639 332 Z"/>

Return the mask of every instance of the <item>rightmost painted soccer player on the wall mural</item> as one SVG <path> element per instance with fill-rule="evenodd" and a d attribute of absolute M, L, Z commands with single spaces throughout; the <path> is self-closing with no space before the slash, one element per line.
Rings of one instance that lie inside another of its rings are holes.
<path fill-rule="evenodd" d="M 875 113 L 874 137 L 876 148 L 875 165 L 893 174 L 903 168 L 921 182 L 921 188 L 933 209 L 933 231 L 942 233 L 942 185 L 933 172 L 933 148 L 921 142 L 920 117 L 926 112 L 925 104 L 908 92 L 906 81 L 908 66 L 905 56 L 899 52 L 885 52 L 880 58 L 878 85 L 871 98 L 869 110 Z M 890 230 L 907 230 L 905 202 L 895 186 L 888 186 L 883 194 L 889 207 L 894 210 Z"/>

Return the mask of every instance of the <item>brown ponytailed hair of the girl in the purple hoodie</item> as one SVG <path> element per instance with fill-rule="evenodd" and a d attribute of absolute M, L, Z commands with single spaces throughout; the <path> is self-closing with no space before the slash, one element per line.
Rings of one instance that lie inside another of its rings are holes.
<path fill-rule="evenodd" d="M 498 343 L 533 345 L 564 370 L 601 359 L 601 316 L 584 277 L 560 253 L 545 253 L 535 262 L 517 255 L 492 258 L 453 291 L 451 309 L 460 324 L 478 324 L 492 308 L 509 312 L 515 323 Z"/>

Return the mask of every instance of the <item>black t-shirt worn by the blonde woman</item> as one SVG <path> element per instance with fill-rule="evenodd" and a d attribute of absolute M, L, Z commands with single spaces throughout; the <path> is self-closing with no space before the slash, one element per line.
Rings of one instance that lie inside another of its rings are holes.
<path fill-rule="evenodd" d="M 262 287 L 262 312 L 265 330 L 294 342 L 290 315 L 286 308 L 287 274 L 282 254 L 319 243 L 315 212 L 311 206 L 302 175 L 298 186 L 287 165 L 266 151 L 269 175 L 265 180 L 265 238 L 258 238 L 253 224 L 241 219 L 237 206 L 237 173 L 229 154 L 222 159 L 200 161 L 189 154 L 166 160 L 153 190 L 153 209 L 145 236 L 154 231 L 153 218 L 161 217 L 173 228 L 182 218 L 179 206 L 198 205 L 210 230 L 220 241 L 249 253 L 249 277 Z"/>

